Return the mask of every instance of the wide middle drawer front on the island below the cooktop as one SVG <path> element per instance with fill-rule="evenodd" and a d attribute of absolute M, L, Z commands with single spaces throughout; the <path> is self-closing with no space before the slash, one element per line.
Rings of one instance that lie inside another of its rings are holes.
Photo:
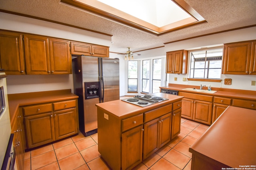
<path fill-rule="evenodd" d="M 160 107 L 158 109 L 154 109 L 148 112 L 145 112 L 144 122 L 156 119 L 162 115 L 165 115 L 166 113 L 169 113 L 172 111 L 172 104 L 168 104 L 166 106 Z"/>

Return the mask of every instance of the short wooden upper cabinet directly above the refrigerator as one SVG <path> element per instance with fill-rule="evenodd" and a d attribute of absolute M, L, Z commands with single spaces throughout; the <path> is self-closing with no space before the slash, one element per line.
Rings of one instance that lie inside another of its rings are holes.
<path fill-rule="evenodd" d="M 71 54 L 94 57 L 109 57 L 109 47 L 91 45 L 79 42 L 70 42 Z"/>

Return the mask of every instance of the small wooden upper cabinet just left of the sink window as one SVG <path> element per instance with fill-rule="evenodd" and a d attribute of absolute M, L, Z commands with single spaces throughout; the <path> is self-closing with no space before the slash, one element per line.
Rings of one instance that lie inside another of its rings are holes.
<path fill-rule="evenodd" d="M 186 74 L 188 51 L 170 51 L 166 53 L 166 73 Z"/>

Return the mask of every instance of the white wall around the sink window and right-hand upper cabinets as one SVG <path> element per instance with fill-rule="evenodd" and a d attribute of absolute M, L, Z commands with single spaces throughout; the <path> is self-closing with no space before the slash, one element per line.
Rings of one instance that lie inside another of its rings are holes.
<path fill-rule="evenodd" d="M 225 33 L 218 33 L 214 35 L 208 35 L 204 37 L 198 37 L 194 39 L 188 39 L 185 41 L 179 41 L 175 43 L 166 44 L 164 51 L 176 51 L 181 49 L 192 50 L 200 49 L 201 47 L 216 47 L 223 45 L 224 43 L 232 43 L 238 41 L 247 41 L 256 39 L 256 27 L 250 27 L 246 29 L 239 29 L 235 31 L 229 31 Z M 189 66 L 190 57 L 188 58 L 188 73 L 187 74 L 168 74 L 169 83 L 173 84 L 186 84 L 186 85 L 196 85 L 200 86 L 209 84 L 212 87 L 219 88 L 232 88 L 232 89 L 242 89 L 242 90 L 256 90 L 256 86 L 251 86 L 251 81 L 256 81 L 256 75 L 232 75 L 232 74 L 222 74 L 222 82 L 198 82 L 198 81 L 183 81 L 183 78 L 189 78 Z M 174 81 L 174 77 L 177 77 L 177 81 Z M 224 79 L 231 78 L 231 85 L 224 85 Z"/>

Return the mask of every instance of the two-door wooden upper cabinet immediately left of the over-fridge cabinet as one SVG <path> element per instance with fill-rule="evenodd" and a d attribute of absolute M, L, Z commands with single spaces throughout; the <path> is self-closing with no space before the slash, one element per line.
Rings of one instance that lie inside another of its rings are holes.
<path fill-rule="evenodd" d="M 24 35 L 27 74 L 72 74 L 69 41 Z"/>

